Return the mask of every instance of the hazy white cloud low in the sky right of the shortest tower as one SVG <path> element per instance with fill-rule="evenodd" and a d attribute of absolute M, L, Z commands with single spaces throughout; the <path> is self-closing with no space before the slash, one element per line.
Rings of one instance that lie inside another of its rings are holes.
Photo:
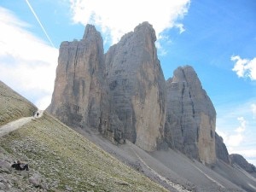
<path fill-rule="evenodd" d="M 216 131 L 223 137 L 229 154 L 241 154 L 254 165 L 256 165 L 255 116 L 253 119 L 255 103 L 255 98 L 251 98 L 240 105 L 225 104 L 221 108 L 218 106 L 216 108 L 218 111 Z"/>

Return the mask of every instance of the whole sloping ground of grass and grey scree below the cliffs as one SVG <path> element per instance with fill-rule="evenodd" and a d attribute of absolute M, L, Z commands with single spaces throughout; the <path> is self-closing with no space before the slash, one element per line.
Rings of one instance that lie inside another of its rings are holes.
<path fill-rule="evenodd" d="M 9 114 L 31 116 L 36 109 L 31 102 L 3 85 L 1 113 L 9 110 Z M 3 118 L 3 115 L 1 118 L 3 125 L 18 119 Z M 0 190 L 224 192 L 256 189 L 254 177 L 241 167 L 232 167 L 221 160 L 210 169 L 172 149 L 147 153 L 128 141 L 114 145 L 97 131 L 74 131 L 49 113 L 30 119 L 20 129 L 0 137 Z M 3 126 L 0 132 L 1 129 Z M 10 169 L 14 160 L 26 161 L 30 170 Z"/>

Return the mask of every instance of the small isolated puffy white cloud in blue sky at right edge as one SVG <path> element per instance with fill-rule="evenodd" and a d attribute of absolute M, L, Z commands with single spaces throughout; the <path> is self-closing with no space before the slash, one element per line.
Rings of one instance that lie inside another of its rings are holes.
<path fill-rule="evenodd" d="M 239 78 L 250 78 L 256 80 L 256 57 L 252 60 L 241 59 L 239 55 L 231 56 L 231 61 L 235 61 L 232 71 L 236 72 Z"/>

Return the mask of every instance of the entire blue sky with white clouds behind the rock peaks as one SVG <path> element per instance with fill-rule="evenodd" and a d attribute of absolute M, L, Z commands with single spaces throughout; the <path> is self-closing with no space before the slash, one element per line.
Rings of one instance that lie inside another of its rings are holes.
<path fill-rule="evenodd" d="M 102 33 L 107 51 L 146 20 L 158 38 L 165 78 L 179 66 L 194 67 L 230 154 L 256 165 L 254 0 L 2 0 L 0 80 L 44 109 L 62 41 L 81 39 L 90 23 Z"/>

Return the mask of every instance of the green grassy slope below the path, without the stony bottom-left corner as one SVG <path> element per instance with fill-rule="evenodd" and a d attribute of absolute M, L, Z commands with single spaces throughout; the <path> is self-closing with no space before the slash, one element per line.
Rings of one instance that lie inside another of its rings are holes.
<path fill-rule="evenodd" d="M 0 139 L 9 156 L 29 162 L 49 189 L 166 191 L 49 114 Z M 57 184 L 56 184 L 57 183 Z"/>

